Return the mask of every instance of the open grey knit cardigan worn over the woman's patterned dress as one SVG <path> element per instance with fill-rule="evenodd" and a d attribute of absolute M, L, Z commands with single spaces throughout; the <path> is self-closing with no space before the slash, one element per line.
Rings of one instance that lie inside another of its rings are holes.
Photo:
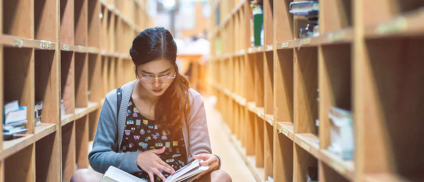
<path fill-rule="evenodd" d="M 88 154 L 91 167 L 99 173 L 104 173 L 111 165 L 128 173 L 140 171 L 136 164 L 137 156 L 140 152 L 124 153 L 120 150 L 127 117 L 128 102 L 136 81 L 128 82 L 121 87 L 122 104 L 119 110 L 118 121 L 116 117 L 116 89 L 110 91 L 103 102 L 94 137 L 93 149 Z M 191 110 L 188 116 L 189 119 L 183 122 L 182 130 L 187 150 L 187 159 L 188 162 L 192 162 L 194 160 L 193 155 L 202 153 L 212 154 L 212 149 L 206 125 L 203 99 L 192 88 L 189 91 Z"/>

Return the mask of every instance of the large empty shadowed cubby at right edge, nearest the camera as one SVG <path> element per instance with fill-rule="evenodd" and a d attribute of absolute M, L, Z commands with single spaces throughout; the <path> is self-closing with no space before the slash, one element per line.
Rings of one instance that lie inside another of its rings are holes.
<path fill-rule="evenodd" d="M 364 145 L 361 153 L 367 154 L 365 173 L 422 176 L 423 40 L 414 37 L 365 42 L 363 79 L 357 86 L 367 88 L 360 92 L 367 107 L 355 108 L 355 112 L 362 113 L 361 122 L 366 123 L 357 129 L 371 136 L 359 141 Z"/>

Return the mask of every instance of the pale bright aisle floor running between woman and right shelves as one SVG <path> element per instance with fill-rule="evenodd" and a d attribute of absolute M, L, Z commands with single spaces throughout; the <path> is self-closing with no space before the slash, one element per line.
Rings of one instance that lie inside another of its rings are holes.
<path fill-rule="evenodd" d="M 231 176 L 233 182 L 256 182 L 243 158 L 230 141 L 226 128 L 223 128 L 225 123 L 222 120 L 220 112 L 215 109 L 214 103 L 214 97 L 204 97 L 212 152 L 221 157 L 221 169 Z"/>

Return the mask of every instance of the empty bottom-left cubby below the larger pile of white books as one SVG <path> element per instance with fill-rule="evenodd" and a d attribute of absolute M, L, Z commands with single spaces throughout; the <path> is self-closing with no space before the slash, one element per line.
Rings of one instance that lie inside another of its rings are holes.
<path fill-rule="evenodd" d="M 5 182 L 33 182 L 35 176 L 34 150 L 34 144 L 31 144 L 4 160 Z"/>

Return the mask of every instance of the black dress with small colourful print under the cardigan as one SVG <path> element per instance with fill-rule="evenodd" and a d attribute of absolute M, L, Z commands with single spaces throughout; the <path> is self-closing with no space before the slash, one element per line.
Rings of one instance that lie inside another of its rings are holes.
<path fill-rule="evenodd" d="M 130 101 L 128 102 L 126 120 L 121 143 L 123 152 L 148 151 L 151 149 L 160 149 L 165 146 L 165 152 L 158 155 L 164 162 L 174 168 L 175 171 L 187 164 L 184 138 L 172 139 L 168 137 L 166 132 L 162 131 L 156 125 L 155 121 L 147 119 L 139 113 L 132 97 L 130 97 Z M 161 172 L 165 177 L 170 175 L 167 172 Z M 145 171 L 133 173 L 133 175 L 150 182 L 150 177 Z M 156 174 L 153 179 L 156 180 L 155 182 L 162 181 Z"/>

